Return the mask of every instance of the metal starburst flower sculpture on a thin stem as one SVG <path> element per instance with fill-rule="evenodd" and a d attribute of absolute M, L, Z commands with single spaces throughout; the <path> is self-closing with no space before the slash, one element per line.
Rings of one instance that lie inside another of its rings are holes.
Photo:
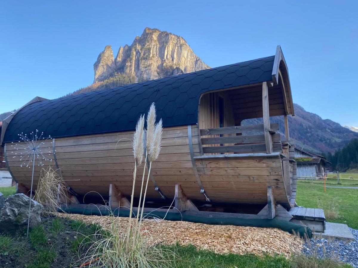
<path fill-rule="evenodd" d="M 51 139 L 51 136 L 43 137 L 43 132 L 38 136 L 38 130 L 36 132 L 32 131 L 29 137 L 26 134 L 18 134 L 19 142 L 12 143 L 12 150 L 15 151 L 15 155 L 13 158 L 18 157 L 20 161 L 20 167 L 28 167 L 31 168 L 32 162 L 32 175 L 31 175 L 31 189 L 30 189 L 30 199 L 32 199 L 32 188 L 34 183 L 34 170 L 35 170 L 35 162 L 38 162 L 38 166 L 43 166 L 44 161 L 52 162 L 50 158 L 51 150 L 50 147 L 46 147 L 46 142 Z M 11 152 L 14 153 L 14 152 Z M 30 164 L 30 167 L 29 167 Z M 31 200 L 29 204 L 29 218 L 27 223 L 27 237 L 29 236 L 29 227 L 30 227 L 30 213 L 31 213 Z"/>

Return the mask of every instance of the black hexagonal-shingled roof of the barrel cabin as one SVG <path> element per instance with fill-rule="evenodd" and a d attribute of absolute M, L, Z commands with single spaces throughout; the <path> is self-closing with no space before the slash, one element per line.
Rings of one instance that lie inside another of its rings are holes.
<path fill-rule="evenodd" d="M 272 81 L 274 58 L 35 102 L 15 114 L 4 142 L 15 141 L 19 133 L 35 129 L 54 138 L 134 130 L 139 115 L 153 102 L 164 127 L 197 124 L 203 93 Z"/>

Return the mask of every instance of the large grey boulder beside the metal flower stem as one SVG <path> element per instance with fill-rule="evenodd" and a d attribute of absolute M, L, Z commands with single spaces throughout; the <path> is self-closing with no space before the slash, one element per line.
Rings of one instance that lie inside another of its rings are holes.
<path fill-rule="evenodd" d="M 5 200 L 0 214 L 0 232 L 15 234 L 26 230 L 29 217 L 29 202 L 31 202 L 30 227 L 41 222 L 40 215 L 43 205 L 30 199 L 24 194 L 13 194 Z"/>

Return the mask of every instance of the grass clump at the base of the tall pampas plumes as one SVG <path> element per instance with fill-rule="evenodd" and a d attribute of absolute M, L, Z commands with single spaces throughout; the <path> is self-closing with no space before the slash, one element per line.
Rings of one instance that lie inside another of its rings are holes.
<path fill-rule="evenodd" d="M 123 220 L 119 217 L 107 217 L 106 227 L 97 230 L 96 234 L 89 239 L 91 242 L 84 243 L 81 247 L 89 245 L 84 257 L 80 262 L 86 264 L 82 267 L 103 267 L 103 268 L 154 268 L 172 267 L 169 256 L 174 256 L 174 252 L 162 247 L 155 247 L 149 242 L 150 233 L 142 231 L 137 234 L 136 228 L 130 228 L 129 234 L 123 228 Z M 126 219 L 127 220 L 127 219 Z M 126 227 L 128 222 L 126 221 Z M 103 225 L 102 225 L 103 226 Z M 136 220 L 132 219 L 129 226 L 135 227 Z M 127 236 L 129 235 L 129 236 Z M 126 241 L 130 241 L 129 249 L 126 249 Z M 88 266 L 87 266 L 88 265 Z M 81 267 L 80 266 L 80 267 Z"/>

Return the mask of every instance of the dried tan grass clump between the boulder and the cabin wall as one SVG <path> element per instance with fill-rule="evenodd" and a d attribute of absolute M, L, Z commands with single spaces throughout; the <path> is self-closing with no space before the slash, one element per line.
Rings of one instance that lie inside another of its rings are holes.
<path fill-rule="evenodd" d="M 66 200 L 66 185 L 52 168 L 42 169 L 34 199 L 44 206 L 45 212 L 57 213 L 59 200 Z"/>

